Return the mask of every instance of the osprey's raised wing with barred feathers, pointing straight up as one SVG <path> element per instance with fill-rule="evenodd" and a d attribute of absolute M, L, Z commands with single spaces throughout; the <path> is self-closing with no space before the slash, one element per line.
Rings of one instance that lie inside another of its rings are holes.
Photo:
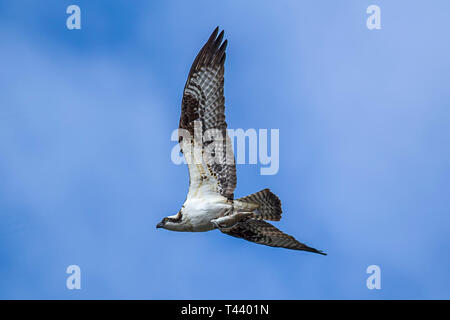
<path fill-rule="evenodd" d="M 218 31 L 218 28 L 214 30 L 195 58 L 181 104 L 179 143 L 189 166 L 188 197 L 203 190 L 233 199 L 236 187 L 223 95 L 227 40 L 222 42 L 223 31 L 217 35 Z M 195 146 L 199 147 L 201 157 L 193 159 Z"/>

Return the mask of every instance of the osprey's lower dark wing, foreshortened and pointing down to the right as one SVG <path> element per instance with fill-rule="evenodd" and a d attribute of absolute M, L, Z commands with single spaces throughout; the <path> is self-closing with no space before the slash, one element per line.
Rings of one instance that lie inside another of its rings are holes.
<path fill-rule="evenodd" d="M 230 229 L 221 229 L 221 231 L 230 236 L 266 246 L 310 251 L 326 255 L 320 250 L 308 247 L 306 244 L 297 241 L 294 237 L 283 233 L 263 220 L 247 219 L 236 223 Z"/>

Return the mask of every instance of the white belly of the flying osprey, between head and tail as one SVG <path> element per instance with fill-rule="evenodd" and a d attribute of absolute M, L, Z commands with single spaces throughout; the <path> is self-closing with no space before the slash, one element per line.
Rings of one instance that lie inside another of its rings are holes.
<path fill-rule="evenodd" d="M 223 216 L 232 208 L 224 199 L 189 199 L 183 213 L 190 222 L 192 231 L 203 232 L 215 229 L 211 220 Z"/>

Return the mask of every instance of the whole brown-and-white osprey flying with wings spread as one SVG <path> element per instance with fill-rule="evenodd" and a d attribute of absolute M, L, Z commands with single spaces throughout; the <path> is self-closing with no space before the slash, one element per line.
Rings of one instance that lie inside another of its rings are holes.
<path fill-rule="evenodd" d="M 219 229 L 272 247 L 320 254 L 264 220 L 281 219 L 281 202 L 269 189 L 234 199 L 236 166 L 227 135 L 223 95 L 227 40 L 216 28 L 189 71 L 181 103 L 179 144 L 189 167 L 189 192 L 181 210 L 156 226 L 172 231 Z"/>

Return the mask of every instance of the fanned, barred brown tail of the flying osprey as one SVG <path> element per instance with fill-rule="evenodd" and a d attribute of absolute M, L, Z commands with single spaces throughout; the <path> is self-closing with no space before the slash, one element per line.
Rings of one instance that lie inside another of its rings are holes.
<path fill-rule="evenodd" d="M 236 199 L 235 208 L 253 212 L 253 218 L 278 221 L 281 219 L 281 201 L 269 189 Z"/>

